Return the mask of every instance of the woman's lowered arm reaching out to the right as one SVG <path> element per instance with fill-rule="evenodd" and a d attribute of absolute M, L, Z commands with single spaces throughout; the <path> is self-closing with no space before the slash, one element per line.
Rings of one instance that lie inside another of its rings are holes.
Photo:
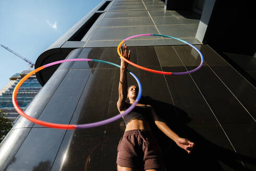
<path fill-rule="evenodd" d="M 159 117 L 156 115 L 154 109 L 150 106 L 152 117 L 155 121 L 155 125 L 164 134 L 172 139 L 180 148 L 186 150 L 189 154 L 194 147 L 194 143 L 185 138 L 180 138 L 172 129 L 170 129 L 163 121 L 160 121 Z"/>

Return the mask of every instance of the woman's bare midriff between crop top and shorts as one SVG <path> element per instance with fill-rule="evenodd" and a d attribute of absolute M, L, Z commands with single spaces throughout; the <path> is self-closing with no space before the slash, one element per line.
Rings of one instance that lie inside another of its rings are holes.
<path fill-rule="evenodd" d="M 147 120 L 141 120 L 141 119 L 131 119 L 129 123 L 126 125 L 125 131 L 133 130 L 133 129 L 145 129 L 145 130 L 151 130 L 149 122 Z"/>

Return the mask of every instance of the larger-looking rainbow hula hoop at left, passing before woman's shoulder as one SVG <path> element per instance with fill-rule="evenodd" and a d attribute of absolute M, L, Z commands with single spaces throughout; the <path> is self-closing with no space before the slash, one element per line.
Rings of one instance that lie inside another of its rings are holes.
<path fill-rule="evenodd" d="M 114 64 L 114 63 L 110 63 L 110 62 L 107 62 L 107 61 L 104 61 L 104 60 L 98 60 L 98 59 L 85 59 L 85 58 L 79 58 L 79 59 L 66 59 L 66 60 L 58 60 L 56 62 L 53 62 L 53 63 L 50 63 L 50 64 L 46 64 L 44 66 L 41 66 L 39 68 L 36 68 L 35 70 L 29 72 L 28 75 L 26 75 L 25 77 L 23 77 L 19 83 L 17 84 L 17 86 L 15 87 L 14 89 L 14 92 L 13 92 L 13 104 L 14 104 L 14 107 L 16 109 L 16 111 L 23 117 L 27 118 L 28 120 L 32 121 L 34 124 L 38 124 L 38 125 L 42 125 L 42 126 L 45 126 L 45 127 L 50 127 L 50 128 L 56 128 L 56 129 L 83 129 L 83 128 L 92 128 L 92 127 L 97 127 L 97 126 L 101 126 L 101 125 L 105 125 L 105 124 L 109 124 L 119 118 L 121 118 L 122 116 L 128 114 L 129 112 L 132 111 L 133 108 L 135 108 L 135 106 L 137 105 L 137 103 L 139 102 L 140 98 L 141 98 L 141 94 L 142 94 L 142 87 L 141 87 L 141 83 L 139 81 L 139 79 L 129 70 L 127 70 L 127 72 L 129 72 L 129 74 L 131 76 L 133 76 L 135 78 L 135 80 L 137 81 L 138 83 L 138 86 L 139 86 L 139 93 L 138 93 L 138 96 L 135 100 L 135 102 L 129 107 L 126 109 L 126 111 L 124 113 L 121 113 L 121 114 L 118 114 L 114 117 L 111 117 L 111 118 L 108 118 L 108 119 L 105 119 L 105 120 L 102 120 L 102 121 L 97 121 L 95 123 L 90 123 L 90 124 L 79 124 L 79 125 L 66 125 L 66 124 L 54 124 L 54 123 L 49 123 L 49 122 L 46 122 L 46 121 L 42 121 L 42 120 L 38 120 L 38 119 L 35 119 L 33 117 L 30 117 L 28 116 L 27 114 L 25 114 L 19 107 L 18 103 L 17 103 L 17 92 L 21 86 L 21 84 L 27 80 L 31 75 L 35 74 L 36 72 L 44 69 L 44 68 L 47 68 L 47 67 L 50 67 L 52 65 L 56 65 L 56 64 L 60 64 L 60 63 L 65 63 L 65 62 L 71 62 L 71 61 L 91 61 L 91 62 L 99 62 L 99 63 L 105 63 L 105 64 L 110 64 L 110 65 L 113 65 L 113 66 L 116 66 L 116 67 L 119 67 L 119 65 L 117 64 Z"/>

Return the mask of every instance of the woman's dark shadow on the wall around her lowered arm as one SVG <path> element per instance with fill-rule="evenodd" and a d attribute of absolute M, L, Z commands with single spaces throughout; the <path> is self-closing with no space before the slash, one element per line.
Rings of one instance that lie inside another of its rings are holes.
<path fill-rule="evenodd" d="M 142 97 L 140 103 L 150 104 L 157 115 L 180 137 L 187 138 L 196 144 L 191 154 L 180 149 L 174 141 L 164 135 L 154 124 L 152 131 L 162 148 L 166 170 L 246 170 L 240 159 L 255 165 L 255 158 L 237 154 L 234 151 L 218 146 L 191 129 L 191 121 L 186 112 L 173 105 L 156 101 L 149 96 Z M 217 126 L 216 126 L 217 128 Z M 217 137 L 216 138 L 220 138 Z M 240 157 L 240 159 L 239 159 Z"/>

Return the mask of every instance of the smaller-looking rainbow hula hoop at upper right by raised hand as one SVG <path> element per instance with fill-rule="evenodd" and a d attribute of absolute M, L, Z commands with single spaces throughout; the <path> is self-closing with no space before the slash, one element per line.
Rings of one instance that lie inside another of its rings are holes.
<path fill-rule="evenodd" d="M 120 46 L 121 46 L 125 41 L 130 40 L 130 39 L 132 39 L 132 38 L 140 37 L 140 36 L 152 36 L 152 35 L 153 35 L 153 36 L 163 36 L 163 37 L 166 37 L 166 38 L 172 38 L 172 39 L 175 39 L 175 40 L 178 40 L 178 41 L 181 41 L 181 42 L 183 42 L 183 43 L 188 44 L 189 46 L 191 46 L 192 48 L 194 48 L 194 50 L 196 50 L 196 51 L 199 53 L 199 55 L 200 55 L 200 57 L 201 57 L 201 63 L 200 63 L 200 65 L 199 65 L 197 68 L 195 68 L 195 69 L 193 69 L 193 70 L 190 70 L 190 71 L 186 71 L 186 72 L 165 72 L 165 71 L 159 71 L 159 70 L 154 70 L 154 69 L 149 69 L 149 68 L 142 67 L 142 66 L 140 66 L 140 65 L 137 65 L 137 64 L 135 64 L 135 63 L 130 62 L 130 60 L 126 59 L 123 55 L 121 55 L 121 53 L 120 53 Z M 138 35 L 130 36 L 129 38 L 126 38 L 125 40 L 123 40 L 123 41 L 121 41 L 121 42 L 119 43 L 119 45 L 117 46 L 117 53 L 118 53 L 118 55 L 119 55 L 122 59 L 124 59 L 125 62 L 127 62 L 128 64 L 130 64 L 130 65 L 132 65 L 132 66 L 135 66 L 135 67 L 137 67 L 137 68 L 140 68 L 140 69 L 149 71 L 149 72 L 154 72 L 154 73 L 156 73 L 156 74 L 164 74 L 164 75 L 185 75 L 185 74 L 190 74 L 190 73 L 192 73 L 192 72 L 194 72 L 194 71 L 199 70 L 199 69 L 202 67 L 202 65 L 203 65 L 203 54 L 198 50 L 197 47 L 193 46 L 192 44 L 190 44 L 190 43 L 188 43 L 188 42 L 186 42 L 186 41 L 184 41 L 184 40 L 181 40 L 181 39 L 175 38 L 175 37 L 173 37 L 173 36 L 169 36 L 169 35 L 163 35 L 163 34 L 138 34 Z"/>

